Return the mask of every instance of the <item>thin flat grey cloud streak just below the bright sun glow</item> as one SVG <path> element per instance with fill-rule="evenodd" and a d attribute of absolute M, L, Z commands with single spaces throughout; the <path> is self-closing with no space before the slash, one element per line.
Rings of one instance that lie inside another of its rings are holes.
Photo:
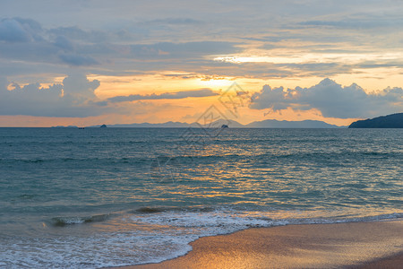
<path fill-rule="evenodd" d="M 194 91 L 176 91 L 176 92 L 166 92 L 162 94 L 148 94 L 148 95 L 140 95 L 140 94 L 132 94 L 129 96 L 116 96 L 109 98 L 110 102 L 124 102 L 124 101 L 133 101 L 133 100 L 162 100 L 162 99 L 184 99 L 188 97 L 209 97 L 219 95 L 219 93 L 214 92 L 210 89 L 200 89 Z"/>

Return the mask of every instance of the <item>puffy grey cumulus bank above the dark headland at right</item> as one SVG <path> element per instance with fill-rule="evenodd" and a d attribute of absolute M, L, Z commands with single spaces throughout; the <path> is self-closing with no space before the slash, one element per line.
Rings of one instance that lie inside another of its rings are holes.
<path fill-rule="evenodd" d="M 353 83 L 350 86 L 324 79 L 310 88 L 296 87 L 284 90 L 265 85 L 253 94 L 250 108 L 280 110 L 317 108 L 323 117 L 373 117 L 403 110 L 403 89 L 387 88 L 377 93 L 366 93 Z"/>

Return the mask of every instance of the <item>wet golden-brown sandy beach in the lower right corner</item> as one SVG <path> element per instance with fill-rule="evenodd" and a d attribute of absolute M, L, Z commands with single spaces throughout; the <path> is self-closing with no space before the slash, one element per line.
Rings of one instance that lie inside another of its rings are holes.
<path fill-rule="evenodd" d="M 185 256 L 125 268 L 402 268 L 403 221 L 253 228 L 191 245 Z"/>

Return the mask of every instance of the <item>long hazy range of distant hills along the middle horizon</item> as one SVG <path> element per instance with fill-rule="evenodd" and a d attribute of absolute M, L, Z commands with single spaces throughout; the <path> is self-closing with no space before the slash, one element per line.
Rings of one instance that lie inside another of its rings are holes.
<path fill-rule="evenodd" d="M 87 127 L 102 127 L 105 125 L 98 126 L 87 126 Z M 346 128 L 347 126 L 335 126 L 325 123 L 319 120 L 302 120 L 302 121 L 287 121 L 287 120 L 276 120 L 276 119 L 266 119 L 262 121 L 254 121 L 247 125 L 242 125 L 235 120 L 221 118 L 210 124 L 201 125 L 200 123 L 182 123 L 182 122 L 172 122 L 168 121 L 166 123 L 160 124 L 121 124 L 121 125 L 108 125 L 111 128 Z"/>

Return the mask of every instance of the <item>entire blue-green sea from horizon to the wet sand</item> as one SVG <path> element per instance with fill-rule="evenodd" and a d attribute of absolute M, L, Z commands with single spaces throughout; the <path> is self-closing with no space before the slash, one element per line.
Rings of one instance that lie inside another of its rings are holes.
<path fill-rule="evenodd" d="M 402 129 L 0 128 L 0 267 L 184 255 L 249 227 L 403 218 Z"/>

